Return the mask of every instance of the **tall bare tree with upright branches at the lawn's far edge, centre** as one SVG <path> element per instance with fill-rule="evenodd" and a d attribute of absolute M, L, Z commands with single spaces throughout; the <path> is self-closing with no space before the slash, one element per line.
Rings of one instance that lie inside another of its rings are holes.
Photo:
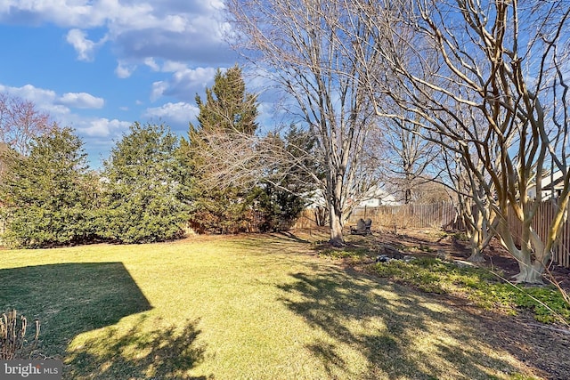
<path fill-rule="evenodd" d="M 351 206 L 348 200 L 370 187 L 362 156 L 376 115 L 360 75 L 377 53 L 370 50 L 365 61 L 354 60 L 362 46 L 340 27 L 353 22 L 346 18 L 343 2 L 230 0 L 228 9 L 236 46 L 289 94 L 296 105 L 289 111 L 317 139 L 324 173 L 320 181 L 330 211 L 330 241 L 342 244 L 343 223 Z M 365 28 L 350 28 L 358 38 L 368 38 Z"/>

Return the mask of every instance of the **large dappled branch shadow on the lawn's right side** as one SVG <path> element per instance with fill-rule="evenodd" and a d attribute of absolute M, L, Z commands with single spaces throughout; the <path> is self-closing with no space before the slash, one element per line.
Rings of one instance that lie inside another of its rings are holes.
<path fill-rule="evenodd" d="M 493 379 L 520 372 L 478 335 L 472 317 L 435 296 L 353 271 L 291 276 L 280 286 L 282 302 L 331 338 L 305 345 L 330 378 Z M 366 370 L 351 369 L 347 347 L 365 358 Z"/>

